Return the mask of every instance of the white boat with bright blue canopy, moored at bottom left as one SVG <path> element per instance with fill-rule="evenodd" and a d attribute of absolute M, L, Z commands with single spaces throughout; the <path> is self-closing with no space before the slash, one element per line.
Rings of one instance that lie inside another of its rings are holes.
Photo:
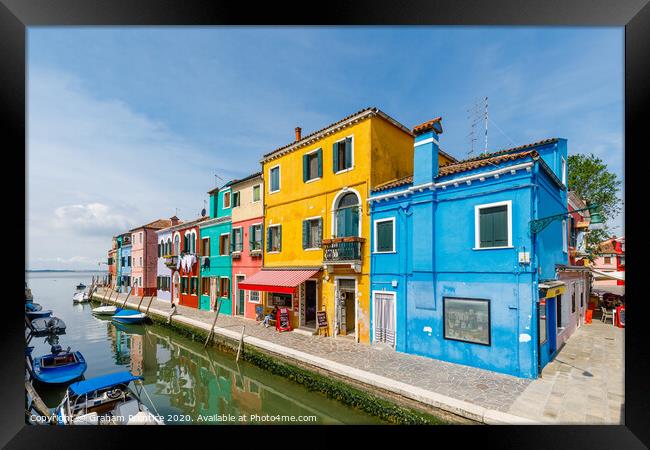
<path fill-rule="evenodd" d="M 59 425 L 164 425 L 140 400 L 144 386 L 129 387 L 142 377 L 118 372 L 68 386 L 54 414 Z M 147 394 L 148 396 L 148 394 Z M 154 407 L 155 408 L 155 407 Z"/>

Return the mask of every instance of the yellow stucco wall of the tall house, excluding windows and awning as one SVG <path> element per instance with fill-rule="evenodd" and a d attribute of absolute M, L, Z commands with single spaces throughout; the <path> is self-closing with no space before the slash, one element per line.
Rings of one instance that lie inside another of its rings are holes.
<path fill-rule="evenodd" d="M 353 167 L 335 174 L 332 146 L 334 142 L 352 136 Z M 320 179 L 305 183 L 302 175 L 303 155 L 318 148 L 323 150 L 323 172 Z M 270 193 L 270 170 L 280 166 L 280 190 Z M 346 127 L 329 136 L 283 156 L 263 162 L 264 183 L 264 229 L 269 225 L 282 224 L 282 249 L 267 252 L 264 248 L 265 267 L 300 267 L 323 264 L 323 250 L 302 248 L 302 222 L 308 218 L 323 219 L 323 238 L 334 237 L 333 208 L 344 190 L 357 193 L 361 201 L 360 227 L 362 244 L 361 272 L 336 266 L 323 271 L 318 290 L 318 310 L 327 311 L 330 336 L 334 333 L 335 280 L 350 277 L 357 282 L 357 327 L 360 342 L 369 342 L 370 316 L 370 215 L 367 204 L 369 190 L 375 184 L 395 177 L 410 175 L 413 171 L 413 138 L 403 130 L 374 116 Z M 266 297 L 266 296 L 265 296 Z M 292 325 L 299 325 L 294 314 Z"/>

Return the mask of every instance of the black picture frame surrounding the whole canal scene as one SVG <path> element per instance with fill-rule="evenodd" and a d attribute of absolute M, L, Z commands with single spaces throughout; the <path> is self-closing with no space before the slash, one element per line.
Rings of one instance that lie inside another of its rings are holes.
<path fill-rule="evenodd" d="M 138 0 L 111 2 L 99 0 L 0 0 L 0 110 L 4 128 L 7 158 L 12 161 L 11 172 L 19 173 L 25 163 L 25 29 L 30 26 L 75 25 L 547 25 L 547 26 L 618 26 L 625 27 L 625 159 L 627 208 L 639 204 L 644 192 L 641 182 L 647 175 L 645 165 L 639 164 L 647 147 L 645 116 L 648 113 L 648 74 L 650 55 L 650 7 L 648 0 L 541 2 L 536 0 L 472 0 L 427 1 L 410 0 L 393 2 L 385 0 L 355 2 L 329 2 L 327 7 L 314 11 L 308 6 L 298 8 L 292 4 L 267 2 L 251 7 L 244 2 L 214 2 L 205 0 Z M 598 124 L 606 126 L 606 124 Z M 635 151 L 629 150 L 634 149 Z M 636 164 L 635 164 L 636 163 Z M 23 172 L 25 173 L 25 172 Z M 637 176 L 634 176 L 636 173 Z M 11 174 L 9 174 L 11 175 Z M 20 177 L 20 175 L 18 175 Z M 12 186 L 6 197 L 5 209 L 11 212 L 11 226 L 25 226 L 25 189 L 20 183 Z M 636 195 L 636 198 L 634 196 Z M 626 270 L 628 298 L 641 298 L 640 268 L 642 220 L 626 224 L 628 242 L 626 257 L 632 263 Z M 24 242 L 25 243 L 25 242 Z M 22 258 L 25 247 L 20 239 L 12 239 L 6 249 L 15 258 Z M 148 446 L 169 444 L 179 433 L 189 429 L 162 427 L 156 433 L 141 427 L 94 427 L 74 430 L 54 427 L 28 427 L 24 423 L 24 340 L 22 334 L 22 307 L 17 301 L 23 295 L 17 273 L 22 270 L 13 264 L 6 269 L 5 326 L 0 329 L 4 339 L 3 382 L 0 398 L 3 399 L 0 446 L 4 448 L 42 448 L 53 444 L 60 448 L 77 448 L 92 442 L 94 448 L 124 447 L 127 443 L 142 442 Z M 24 276 L 24 275 L 23 275 Z M 645 333 L 647 302 L 630 302 L 630 322 L 626 327 L 625 342 L 625 424 L 620 426 L 526 426 L 526 427 L 374 427 L 363 433 L 364 444 L 382 442 L 384 438 L 397 437 L 415 442 L 417 437 L 476 440 L 481 445 L 494 442 L 499 448 L 646 448 L 650 445 L 650 396 L 647 393 L 647 374 L 650 372 L 650 349 Z M 631 363 L 633 362 L 633 364 Z M 63 427 L 61 427 L 63 428 Z M 237 438 L 247 433 L 239 427 L 219 427 L 218 439 L 225 435 Z M 350 433 L 358 437 L 355 427 L 305 426 L 293 428 L 292 434 L 304 433 L 313 438 L 327 433 Z M 145 434 L 146 433 L 146 434 Z M 212 427 L 193 427 L 192 441 L 211 440 Z M 353 434 L 354 433 L 354 434 Z M 403 434 L 402 434 L 403 433 Z M 408 433 L 408 434 L 407 434 Z M 435 435 L 434 435 L 435 433 Z M 420 435 L 417 436 L 416 435 Z M 187 434 L 185 434 L 187 436 Z M 186 437 L 184 439 L 187 439 Z M 385 441 L 384 441 L 385 442 Z"/>

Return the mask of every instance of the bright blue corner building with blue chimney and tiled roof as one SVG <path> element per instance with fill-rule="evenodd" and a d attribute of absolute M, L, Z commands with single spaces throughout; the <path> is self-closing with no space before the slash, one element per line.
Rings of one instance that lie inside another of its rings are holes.
<path fill-rule="evenodd" d="M 371 335 L 398 351 L 535 378 L 557 351 L 567 142 L 438 167 L 441 119 L 413 129 L 413 176 L 369 198 Z"/>

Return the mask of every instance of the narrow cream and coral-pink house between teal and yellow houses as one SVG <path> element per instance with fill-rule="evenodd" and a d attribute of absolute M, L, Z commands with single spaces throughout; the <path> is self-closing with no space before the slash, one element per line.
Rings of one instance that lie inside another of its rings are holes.
<path fill-rule="evenodd" d="M 255 308 L 262 307 L 259 291 L 239 288 L 246 278 L 262 268 L 262 230 L 264 227 L 264 188 L 262 174 L 255 173 L 233 183 L 232 190 L 232 300 L 233 314 L 255 319 Z"/>

